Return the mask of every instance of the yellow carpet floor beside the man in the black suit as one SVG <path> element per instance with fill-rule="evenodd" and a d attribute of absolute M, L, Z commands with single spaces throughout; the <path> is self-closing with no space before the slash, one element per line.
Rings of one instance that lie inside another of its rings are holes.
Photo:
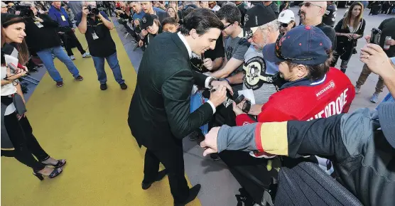
<path fill-rule="evenodd" d="M 75 33 L 87 48 L 85 36 Z M 40 145 L 50 156 L 66 158 L 67 165 L 59 177 L 40 182 L 31 168 L 1 157 L 1 205 L 173 205 L 167 177 L 141 189 L 145 149 L 126 122 L 136 72 L 117 31 L 111 33 L 129 88 L 120 89 L 106 63 L 108 90 L 99 90 L 92 58 L 82 58 L 77 49 L 74 63 L 82 82 L 56 59 L 65 85 L 56 87 L 45 74 L 28 101 L 27 116 Z"/>

